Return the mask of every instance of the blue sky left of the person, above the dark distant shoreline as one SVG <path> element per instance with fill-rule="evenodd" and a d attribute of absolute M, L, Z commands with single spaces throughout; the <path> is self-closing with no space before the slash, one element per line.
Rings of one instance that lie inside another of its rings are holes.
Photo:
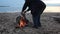
<path fill-rule="evenodd" d="M 24 0 L 0 0 L 0 6 L 18 7 L 24 3 Z"/>

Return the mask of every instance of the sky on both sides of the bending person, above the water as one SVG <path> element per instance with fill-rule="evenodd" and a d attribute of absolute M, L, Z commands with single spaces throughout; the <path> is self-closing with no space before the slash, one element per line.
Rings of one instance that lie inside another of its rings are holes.
<path fill-rule="evenodd" d="M 46 4 L 59 4 L 60 0 L 42 0 Z M 24 4 L 24 0 L 0 0 L 0 6 L 19 7 Z"/>

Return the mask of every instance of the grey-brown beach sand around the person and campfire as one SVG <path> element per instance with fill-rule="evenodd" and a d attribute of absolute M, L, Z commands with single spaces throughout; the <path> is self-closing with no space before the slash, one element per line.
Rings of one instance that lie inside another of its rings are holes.
<path fill-rule="evenodd" d="M 52 16 L 60 16 L 59 13 L 43 13 L 41 15 L 42 27 L 39 29 L 25 27 L 23 30 L 16 27 L 16 17 L 20 13 L 0 13 L 0 34 L 60 34 L 60 23 L 54 21 Z M 32 15 L 26 14 L 32 22 Z M 32 24 L 30 24 L 32 25 Z"/>

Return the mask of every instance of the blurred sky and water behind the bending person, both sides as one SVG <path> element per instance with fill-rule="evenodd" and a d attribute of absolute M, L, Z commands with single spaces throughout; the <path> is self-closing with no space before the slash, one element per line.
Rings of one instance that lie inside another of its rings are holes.
<path fill-rule="evenodd" d="M 44 12 L 60 12 L 60 0 L 42 0 L 46 5 Z M 21 12 L 24 0 L 0 0 L 1 12 Z"/>

